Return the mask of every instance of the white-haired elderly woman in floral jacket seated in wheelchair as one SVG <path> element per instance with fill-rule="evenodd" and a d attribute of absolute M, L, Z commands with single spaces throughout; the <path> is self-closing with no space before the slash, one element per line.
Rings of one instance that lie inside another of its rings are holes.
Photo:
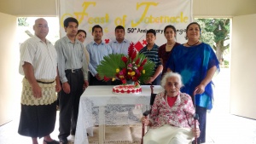
<path fill-rule="evenodd" d="M 149 118 L 142 118 L 142 123 L 150 126 L 143 143 L 189 144 L 194 136 L 199 137 L 200 130 L 197 122 L 194 129 L 195 109 L 191 97 L 180 92 L 181 76 L 166 72 L 161 86 L 165 91 L 156 95 Z"/>

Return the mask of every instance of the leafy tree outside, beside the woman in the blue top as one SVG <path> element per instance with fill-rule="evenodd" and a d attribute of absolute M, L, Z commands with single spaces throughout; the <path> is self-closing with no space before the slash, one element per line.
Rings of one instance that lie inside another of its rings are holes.
<path fill-rule="evenodd" d="M 201 25 L 201 41 L 208 43 L 216 52 L 220 63 L 224 51 L 230 48 L 230 19 L 195 19 Z"/>

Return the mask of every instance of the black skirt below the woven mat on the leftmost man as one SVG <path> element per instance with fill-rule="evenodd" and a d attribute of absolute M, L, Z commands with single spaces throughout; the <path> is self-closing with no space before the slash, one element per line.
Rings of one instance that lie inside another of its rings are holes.
<path fill-rule="evenodd" d="M 21 104 L 18 133 L 41 138 L 55 130 L 56 101 L 50 105 L 26 106 Z"/>

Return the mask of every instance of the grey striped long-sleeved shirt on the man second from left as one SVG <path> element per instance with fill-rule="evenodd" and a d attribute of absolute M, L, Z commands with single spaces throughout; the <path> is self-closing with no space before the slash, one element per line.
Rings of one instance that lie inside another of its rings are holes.
<path fill-rule="evenodd" d="M 65 70 L 82 68 L 84 80 L 88 80 L 88 66 L 84 55 L 84 45 L 78 39 L 72 43 L 67 36 L 55 42 L 58 54 L 58 69 L 61 83 L 67 82 Z"/>

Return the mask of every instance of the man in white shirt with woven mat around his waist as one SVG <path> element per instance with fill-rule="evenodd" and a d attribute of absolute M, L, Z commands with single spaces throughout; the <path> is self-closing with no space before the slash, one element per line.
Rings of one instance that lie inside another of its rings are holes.
<path fill-rule="evenodd" d="M 55 91 L 61 90 L 57 53 L 45 38 L 49 32 L 46 20 L 35 20 L 33 30 L 35 36 L 20 45 L 19 72 L 25 78 L 22 82 L 18 133 L 32 137 L 32 144 L 38 144 L 38 137 L 44 137 L 44 144 L 59 144 L 49 136 L 55 129 Z"/>

